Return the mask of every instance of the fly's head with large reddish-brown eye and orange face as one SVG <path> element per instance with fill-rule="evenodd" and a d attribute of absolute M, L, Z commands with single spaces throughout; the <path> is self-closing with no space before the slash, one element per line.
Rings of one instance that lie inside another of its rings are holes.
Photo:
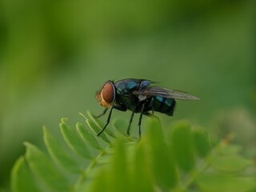
<path fill-rule="evenodd" d="M 115 101 L 115 88 L 111 81 L 105 82 L 102 89 L 98 92 L 96 99 L 104 107 L 111 107 Z"/>

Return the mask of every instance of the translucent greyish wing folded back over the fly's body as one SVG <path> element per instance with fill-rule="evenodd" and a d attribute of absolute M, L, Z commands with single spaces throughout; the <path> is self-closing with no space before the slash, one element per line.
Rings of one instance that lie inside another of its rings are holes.
<path fill-rule="evenodd" d="M 169 90 L 160 86 L 151 86 L 146 89 L 136 90 L 134 94 L 139 97 L 162 96 L 163 98 L 176 98 L 181 100 L 199 100 L 199 98 L 180 90 Z"/>

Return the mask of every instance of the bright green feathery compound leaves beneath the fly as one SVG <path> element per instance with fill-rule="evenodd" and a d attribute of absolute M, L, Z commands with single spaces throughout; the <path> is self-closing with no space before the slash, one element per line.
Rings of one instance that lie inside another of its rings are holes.
<path fill-rule="evenodd" d="M 25 142 L 26 154 L 11 173 L 18 191 L 253 191 L 255 164 L 230 142 L 212 142 L 205 130 L 176 122 L 163 137 L 151 118 L 142 139 L 126 135 L 127 122 L 115 120 L 100 137 L 102 123 L 88 113 L 76 129 L 62 118 L 66 146 L 46 127 L 48 153 Z"/>

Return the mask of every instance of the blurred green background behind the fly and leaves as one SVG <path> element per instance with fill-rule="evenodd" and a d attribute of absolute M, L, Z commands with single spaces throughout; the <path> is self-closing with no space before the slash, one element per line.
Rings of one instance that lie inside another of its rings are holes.
<path fill-rule="evenodd" d="M 253 0 L 0 1 L 0 189 L 22 142 L 42 146 L 43 125 L 59 135 L 60 118 L 102 112 L 95 94 L 109 79 L 198 96 L 162 123 L 233 131 L 255 158 L 255 10 Z"/>

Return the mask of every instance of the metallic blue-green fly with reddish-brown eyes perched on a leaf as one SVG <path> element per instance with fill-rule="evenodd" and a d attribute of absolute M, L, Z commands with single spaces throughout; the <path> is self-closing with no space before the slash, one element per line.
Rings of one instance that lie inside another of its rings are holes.
<path fill-rule="evenodd" d="M 130 134 L 130 125 L 134 118 L 134 113 L 140 113 L 138 120 L 138 135 L 141 138 L 142 115 L 152 115 L 154 111 L 173 116 L 176 106 L 175 99 L 180 100 L 199 100 L 199 98 L 182 92 L 180 90 L 170 90 L 161 86 L 154 86 L 154 82 L 146 79 L 126 78 L 118 82 L 107 81 L 98 92 L 96 99 L 101 106 L 106 107 L 102 114 L 106 114 L 110 108 L 110 114 L 106 124 L 98 133 L 98 136 L 106 129 L 110 123 L 112 110 L 131 110 L 130 123 L 127 134 Z M 152 111 L 152 114 L 150 114 Z"/>

